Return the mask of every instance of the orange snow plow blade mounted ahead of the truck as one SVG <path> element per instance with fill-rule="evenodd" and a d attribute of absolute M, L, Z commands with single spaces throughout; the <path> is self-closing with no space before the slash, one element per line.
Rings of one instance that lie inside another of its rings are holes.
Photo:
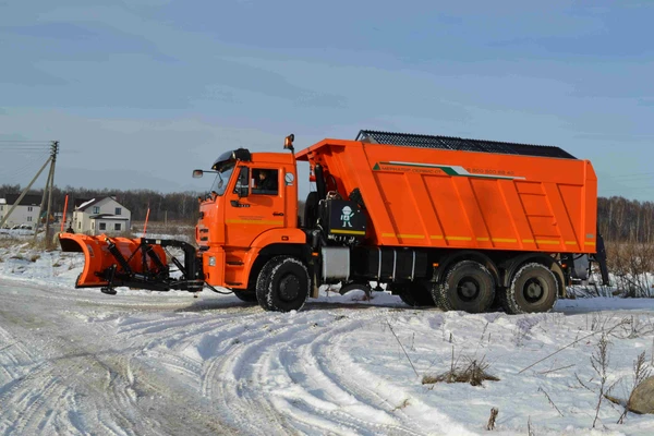
<path fill-rule="evenodd" d="M 109 238 L 106 234 L 61 233 L 62 252 L 84 253 L 84 270 L 77 277 L 76 288 L 120 286 L 120 277 L 144 274 L 167 274 L 166 252 L 158 245 L 143 245 L 141 239 Z"/>

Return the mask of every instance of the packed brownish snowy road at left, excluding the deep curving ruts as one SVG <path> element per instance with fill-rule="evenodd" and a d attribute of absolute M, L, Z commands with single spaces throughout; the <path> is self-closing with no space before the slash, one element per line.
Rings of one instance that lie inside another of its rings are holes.
<path fill-rule="evenodd" d="M 146 336 L 123 335 L 109 322 L 182 304 L 111 303 L 25 283 L 0 286 L 0 433 L 228 433 L 211 404 L 138 361 Z"/>

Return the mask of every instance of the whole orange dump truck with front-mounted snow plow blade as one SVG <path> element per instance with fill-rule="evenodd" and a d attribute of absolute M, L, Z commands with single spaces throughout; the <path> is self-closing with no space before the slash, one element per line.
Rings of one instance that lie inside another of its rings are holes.
<path fill-rule="evenodd" d="M 322 284 L 390 291 L 410 305 L 544 312 L 600 265 L 597 179 L 558 147 L 361 131 L 295 155 L 223 153 L 199 201 L 196 245 L 63 233 L 84 252 L 77 287 L 198 292 L 227 288 L 265 310 L 292 311 Z M 296 160 L 315 182 L 298 216 Z M 167 246 L 184 252 L 167 259 Z M 578 266 L 576 268 L 576 265 Z M 174 266 L 178 274 L 173 274 Z"/>

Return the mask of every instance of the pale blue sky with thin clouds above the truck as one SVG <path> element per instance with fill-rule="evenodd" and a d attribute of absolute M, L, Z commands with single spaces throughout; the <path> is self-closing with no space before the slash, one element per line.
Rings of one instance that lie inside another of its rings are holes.
<path fill-rule="evenodd" d="M 291 132 L 443 134 L 557 145 L 601 195 L 652 201 L 652 22 L 651 1 L 0 0 L 0 141 L 59 140 L 60 186 L 169 192 Z M 0 184 L 40 166 L 0 153 Z"/>

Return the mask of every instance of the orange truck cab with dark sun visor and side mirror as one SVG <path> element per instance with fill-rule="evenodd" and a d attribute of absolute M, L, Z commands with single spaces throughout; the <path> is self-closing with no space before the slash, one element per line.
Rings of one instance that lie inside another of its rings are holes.
<path fill-rule="evenodd" d="M 239 148 L 220 155 L 211 171 L 196 170 L 194 175 L 203 172 L 216 174 L 210 192 L 198 198 L 195 238 L 205 280 L 254 301 L 263 263 L 257 259 L 272 255 L 276 244 L 306 240 L 298 229 L 295 158 Z"/>

